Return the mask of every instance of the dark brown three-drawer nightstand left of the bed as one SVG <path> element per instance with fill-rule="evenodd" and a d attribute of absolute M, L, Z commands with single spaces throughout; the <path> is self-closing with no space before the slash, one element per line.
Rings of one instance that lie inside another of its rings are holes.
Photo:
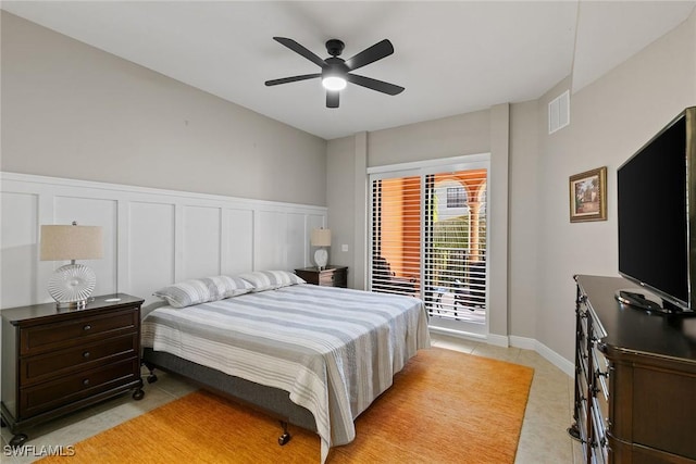
<path fill-rule="evenodd" d="M 55 303 L 11 308 L 2 316 L 2 422 L 14 438 L 36 424 L 135 390 L 140 379 L 140 305 L 124 293 L 83 310 Z"/>

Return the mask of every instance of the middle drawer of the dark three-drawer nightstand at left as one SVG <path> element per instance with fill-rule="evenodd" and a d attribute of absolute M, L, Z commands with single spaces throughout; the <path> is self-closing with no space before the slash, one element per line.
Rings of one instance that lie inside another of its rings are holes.
<path fill-rule="evenodd" d="M 20 386 L 26 387 L 73 371 L 84 371 L 136 355 L 137 334 L 95 341 L 20 361 Z"/>

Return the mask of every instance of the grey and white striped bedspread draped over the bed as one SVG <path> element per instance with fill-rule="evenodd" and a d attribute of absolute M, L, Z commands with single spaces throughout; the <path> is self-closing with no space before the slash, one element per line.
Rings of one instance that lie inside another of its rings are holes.
<path fill-rule="evenodd" d="M 353 419 L 430 347 L 421 300 L 313 285 L 159 308 L 141 330 L 145 347 L 288 391 L 314 415 L 322 462 L 330 447 L 353 440 Z"/>

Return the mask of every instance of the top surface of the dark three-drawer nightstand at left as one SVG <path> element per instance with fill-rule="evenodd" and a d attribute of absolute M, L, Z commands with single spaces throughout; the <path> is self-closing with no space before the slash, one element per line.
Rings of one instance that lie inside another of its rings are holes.
<path fill-rule="evenodd" d="M 100 294 L 94 297 L 94 301 L 87 303 L 84 309 L 67 309 L 58 308 L 54 302 L 32 304 L 27 306 L 8 308 L 0 311 L 2 319 L 10 322 L 13 325 L 18 325 L 26 321 L 48 321 L 55 317 L 62 317 L 66 314 L 70 315 L 89 315 L 90 312 L 105 310 L 105 309 L 119 309 L 125 306 L 133 306 L 135 304 L 142 304 L 145 300 L 138 297 L 133 297 L 126 293 L 111 293 Z"/>

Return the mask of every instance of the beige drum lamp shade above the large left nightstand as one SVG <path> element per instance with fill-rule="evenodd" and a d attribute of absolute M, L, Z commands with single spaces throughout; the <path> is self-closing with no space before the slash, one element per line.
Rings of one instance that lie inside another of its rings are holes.
<path fill-rule="evenodd" d="M 103 256 L 98 226 L 41 226 L 41 261 L 97 260 Z"/>

